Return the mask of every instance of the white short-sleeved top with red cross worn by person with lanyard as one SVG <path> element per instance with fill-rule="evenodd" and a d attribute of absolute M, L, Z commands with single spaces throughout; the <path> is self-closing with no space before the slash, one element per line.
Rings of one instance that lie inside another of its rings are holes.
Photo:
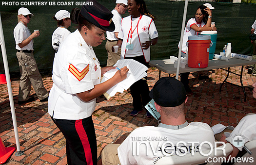
<path fill-rule="evenodd" d="M 139 21 L 139 22 L 138 22 Z M 132 39 L 131 39 L 131 24 L 132 24 Z M 138 27 L 137 27 L 138 25 Z M 141 44 L 149 41 L 149 38 L 154 39 L 158 37 L 158 31 L 153 19 L 149 16 L 142 15 L 142 17 L 132 18 L 126 16 L 121 21 L 121 28 L 118 33 L 118 38 L 123 39 L 121 46 L 121 59 L 125 57 L 136 57 L 144 55 L 146 62 L 150 61 L 150 47 L 142 49 Z M 131 39 L 131 40 L 130 40 Z M 134 44 L 133 49 L 126 49 L 126 44 Z"/>

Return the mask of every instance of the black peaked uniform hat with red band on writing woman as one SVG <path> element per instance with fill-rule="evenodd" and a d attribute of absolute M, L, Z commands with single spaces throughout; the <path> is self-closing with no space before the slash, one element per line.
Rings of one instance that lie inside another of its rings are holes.
<path fill-rule="evenodd" d="M 97 0 L 87 0 L 87 2 L 92 2 L 93 5 L 83 5 L 81 15 L 100 29 L 113 32 L 115 30 L 113 14 Z"/>

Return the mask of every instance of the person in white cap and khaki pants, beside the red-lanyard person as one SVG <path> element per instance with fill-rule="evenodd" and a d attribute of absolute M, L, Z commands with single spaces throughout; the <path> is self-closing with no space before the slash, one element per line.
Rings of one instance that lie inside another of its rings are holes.
<path fill-rule="evenodd" d="M 112 21 L 114 22 L 116 28 L 113 32 L 107 31 L 107 42 L 106 42 L 106 50 L 108 53 L 107 66 L 113 66 L 120 60 L 121 49 L 118 49 L 118 53 L 112 52 L 112 46 L 117 45 L 118 43 L 118 32 L 121 25 L 122 16 L 127 9 L 127 0 L 117 0 L 116 7 L 112 10 L 112 14 L 114 15 Z"/>

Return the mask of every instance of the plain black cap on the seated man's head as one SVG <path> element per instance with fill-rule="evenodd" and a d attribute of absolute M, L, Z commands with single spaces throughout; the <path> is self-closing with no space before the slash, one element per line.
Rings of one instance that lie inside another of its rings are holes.
<path fill-rule="evenodd" d="M 186 99 L 186 90 L 182 82 L 173 77 L 162 77 L 154 85 L 149 96 L 163 107 L 176 107 Z"/>

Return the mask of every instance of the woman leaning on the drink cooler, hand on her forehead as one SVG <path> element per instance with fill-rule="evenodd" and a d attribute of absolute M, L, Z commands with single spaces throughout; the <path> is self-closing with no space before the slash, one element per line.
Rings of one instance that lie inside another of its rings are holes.
<path fill-rule="evenodd" d="M 186 42 L 188 41 L 188 36 L 198 35 L 198 32 L 202 31 L 216 31 L 217 28 L 212 24 L 212 11 L 208 7 L 201 5 L 197 8 L 196 15 L 194 18 L 190 18 L 187 22 L 187 25 L 184 30 L 183 43 L 181 48 L 181 57 L 186 57 L 187 46 Z M 178 43 L 179 48 L 180 41 Z M 191 92 L 189 88 L 189 76 L 190 72 L 181 73 L 180 82 L 185 86 L 187 92 Z"/>

